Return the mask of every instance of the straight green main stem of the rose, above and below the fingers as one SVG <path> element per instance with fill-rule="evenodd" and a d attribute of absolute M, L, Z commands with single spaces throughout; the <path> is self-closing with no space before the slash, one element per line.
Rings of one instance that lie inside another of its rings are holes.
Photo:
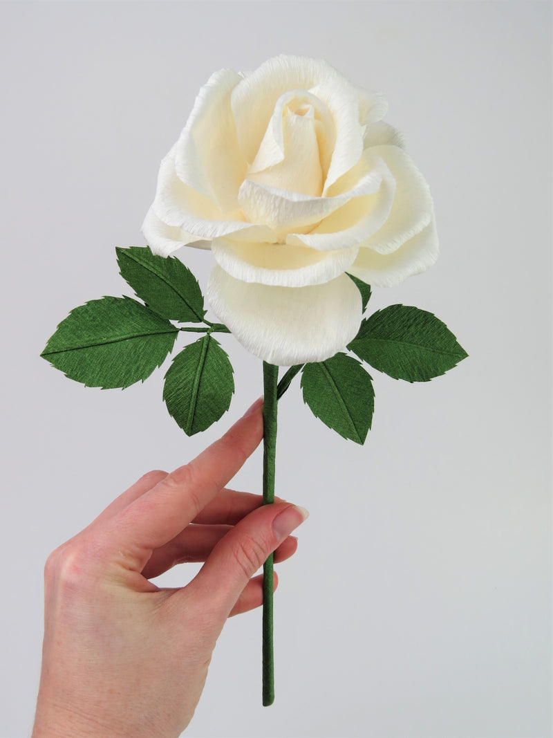
<path fill-rule="evenodd" d="M 274 502 L 279 368 L 263 362 L 263 504 Z M 274 703 L 273 554 L 263 565 L 263 706 Z"/>

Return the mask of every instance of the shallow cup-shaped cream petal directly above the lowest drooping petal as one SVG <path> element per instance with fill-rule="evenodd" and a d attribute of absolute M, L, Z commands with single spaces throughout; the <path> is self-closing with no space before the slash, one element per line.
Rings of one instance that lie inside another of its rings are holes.
<path fill-rule="evenodd" d="M 305 287 L 344 274 L 355 262 L 358 248 L 323 252 L 287 244 L 246 244 L 215 238 L 212 253 L 225 272 L 243 282 Z"/>

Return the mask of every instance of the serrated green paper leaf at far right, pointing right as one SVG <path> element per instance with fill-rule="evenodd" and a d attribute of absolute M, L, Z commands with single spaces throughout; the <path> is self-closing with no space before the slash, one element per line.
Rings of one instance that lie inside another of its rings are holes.
<path fill-rule="evenodd" d="M 435 315 L 406 305 L 378 310 L 348 345 L 375 369 L 406 382 L 428 382 L 468 355 Z"/>

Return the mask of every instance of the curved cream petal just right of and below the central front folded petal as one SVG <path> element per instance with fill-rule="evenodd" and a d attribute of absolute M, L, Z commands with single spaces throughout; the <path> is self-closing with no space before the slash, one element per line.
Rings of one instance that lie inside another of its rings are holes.
<path fill-rule="evenodd" d="M 364 151 L 363 167 L 352 179 L 363 170 L 366 170 L 367 174 L 372 173 L 372 176 L 378 175 L 381 179 L 378 191 L 372 195 L 349 199 L 310 232 L 294 232 L 288 235 L 287 244 L 305 245 L 321 251 L 349 248 L 363 243 L 385 224 L 392 210 L 395 181 L 386 162 L 378 154 L 373 154 L 373 151 L 373 149 Z"/>

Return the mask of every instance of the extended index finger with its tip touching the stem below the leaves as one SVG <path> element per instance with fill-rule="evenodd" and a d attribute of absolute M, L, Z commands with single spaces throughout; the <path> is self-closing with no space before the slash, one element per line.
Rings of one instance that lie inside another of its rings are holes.
<path fill-rule="evenodd" d="M 263 435 L 262 399 L 193 461 L 175 469 L 111 519 L 110 548 L 143 559 L 180 533 L 228 483 L 259 446 Z"/>

